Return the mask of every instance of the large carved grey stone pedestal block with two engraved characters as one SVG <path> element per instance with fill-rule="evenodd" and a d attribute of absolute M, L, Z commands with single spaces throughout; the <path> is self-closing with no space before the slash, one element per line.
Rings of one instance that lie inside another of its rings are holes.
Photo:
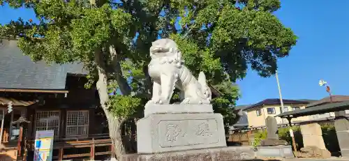
<path fill-rule="evenodd" d="M 150 114 L 137 122 L 138 153 L 225 146 L 221 114 Z"/>

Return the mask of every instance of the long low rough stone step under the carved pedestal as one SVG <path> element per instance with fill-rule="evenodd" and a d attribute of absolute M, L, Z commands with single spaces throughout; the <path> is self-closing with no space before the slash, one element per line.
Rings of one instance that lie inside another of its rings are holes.
<path fill-rule="evenodd" d="M 154 154 L 127 154 L 122 161 L 237 161 L 253 160 L 255 152 L 250 146 L 207 148 Z"/>

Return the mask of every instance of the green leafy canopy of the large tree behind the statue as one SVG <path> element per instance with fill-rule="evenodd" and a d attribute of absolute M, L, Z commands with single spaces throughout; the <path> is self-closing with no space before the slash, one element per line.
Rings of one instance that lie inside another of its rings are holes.
<path fill-rule="evenodd" d="M 19 19 L 0 26 L 0 36 L 19 38 L 20 49 L 34 61 L 80 61 L 89 70 L 86 86 L 91 87 L 98 79 L 96 56 L 103 55 L 110 91 L 131 89 L 108 101 L 111 112 L 125 117 L 151 98 L 149 47 L 159 34 L 174 39 L 193 75 L 205 72 L 220 93 L 212 102 L 225 127 L 237 121 L 233 108 L 239 94 L 233 83 L 245 77 L 248 64 L 262 77 L 273 75 L 276 59 L 288 56 L 297 39 L 272 14 L 279 0 L 0 0 L 4 3 L 35 11 L 39 23 Z M 174 93 L 172 102 L 177 100 Z"/>

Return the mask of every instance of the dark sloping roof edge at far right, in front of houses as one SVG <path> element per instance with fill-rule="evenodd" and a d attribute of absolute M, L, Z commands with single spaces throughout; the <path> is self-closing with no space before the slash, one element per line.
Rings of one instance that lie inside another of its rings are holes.
<path fill-rule="evenodd" d="M 296 111 L 291 111 L 291 112 L 283 112 L 282 114 L 278 114 L 275 117 L 281 117 L 281 118 L 297 118 L 300 116 L 309 116 L 313 114 L 325 114 L 328 112 L 339 112 L 349 109 L 349 101 L 345 102 L 334 102 L 334 103 L 329 103 L 326 105 L 319 105 L 319 106 L 314 106 L 314 107 L 309 107 L 305 109 L 299 109 Z"/>

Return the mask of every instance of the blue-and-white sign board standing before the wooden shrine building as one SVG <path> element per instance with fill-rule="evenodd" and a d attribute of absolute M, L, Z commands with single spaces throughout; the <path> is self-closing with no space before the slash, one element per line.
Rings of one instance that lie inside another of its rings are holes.
<path fill-rule="evenodd" d="M 52 161 L 54 130 L 36 131 L 34 161 Z"/>

